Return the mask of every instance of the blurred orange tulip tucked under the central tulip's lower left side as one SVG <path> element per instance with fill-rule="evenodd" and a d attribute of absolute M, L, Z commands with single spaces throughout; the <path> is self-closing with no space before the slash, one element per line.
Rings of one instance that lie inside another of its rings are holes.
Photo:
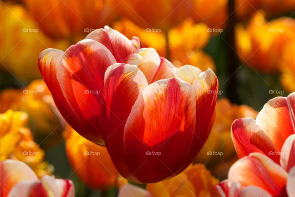
<path fill-rule="evenodd" d="M 116 187 L 119 173 L 106 147 L 90 142 L 69 126 L 63 135 L 69 163 L 88 187 L 92 189 Z"/>

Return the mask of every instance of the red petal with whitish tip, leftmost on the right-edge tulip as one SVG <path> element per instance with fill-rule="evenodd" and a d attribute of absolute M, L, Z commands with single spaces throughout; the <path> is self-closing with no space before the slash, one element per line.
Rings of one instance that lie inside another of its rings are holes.
<path fill-rule="evenodd" d="M 235 120 L 231 127 L 231 136 L 239 158 L 252 152 L 260 152 L 279 163 L 277 148 L 253 118 Z"/>

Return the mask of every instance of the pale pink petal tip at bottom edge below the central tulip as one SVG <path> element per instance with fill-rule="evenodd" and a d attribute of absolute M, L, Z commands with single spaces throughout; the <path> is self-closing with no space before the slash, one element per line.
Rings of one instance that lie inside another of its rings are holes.
<path fill-rule="evenodd" d="M 134 185 L 124 184 L 118 193 L 118 197 L 153 197 L 151 193 L 147 190 L 144 190 L 140 187 Z"/>

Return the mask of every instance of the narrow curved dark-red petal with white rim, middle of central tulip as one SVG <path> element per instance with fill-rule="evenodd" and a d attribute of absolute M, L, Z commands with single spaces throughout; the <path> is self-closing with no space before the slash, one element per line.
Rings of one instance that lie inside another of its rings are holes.
<path fill-rule="evenodd" d="M 124 125 L 137 97 L 147 86 L 148 82 L 137 66 L 116 63 L 105 72 L 100 125 L 112 162 L 126 179 L 132 174 L 124 151 Z"/>

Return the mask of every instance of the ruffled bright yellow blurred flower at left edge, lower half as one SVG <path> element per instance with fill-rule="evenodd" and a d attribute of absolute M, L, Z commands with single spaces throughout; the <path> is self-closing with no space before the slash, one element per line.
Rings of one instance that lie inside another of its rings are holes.
<path fill-rule="evenodd" d="M 0 114 L 0 161 L 13 159 L 25 162 L 40 178 L 50 175 L 53 166 L 44 162 L 44 150 L 33 141 L 25 127 L 28 115 L 22 111 L 7 110 Z"/>

